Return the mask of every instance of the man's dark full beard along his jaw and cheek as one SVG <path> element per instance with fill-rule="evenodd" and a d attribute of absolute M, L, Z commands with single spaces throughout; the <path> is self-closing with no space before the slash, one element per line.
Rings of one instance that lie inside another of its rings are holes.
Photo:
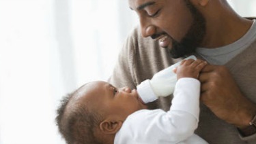
<path fill-rule="evenodd" d="M 206 31 L 205 18 L 203 18 L 201 12 L 189 0 L 184 1 L 193 16 L 193 24 L 180 42 L 172 39 L 170 54 L 173 58 L 180 58 L 195 52 L 203 41 Z"/>

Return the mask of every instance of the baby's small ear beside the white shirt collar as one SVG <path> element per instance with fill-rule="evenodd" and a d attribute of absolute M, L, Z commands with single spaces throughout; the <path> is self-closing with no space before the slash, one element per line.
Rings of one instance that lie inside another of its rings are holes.
<path fill-rule="evenodd" d="M 100 130 L 105 134 L 115 134 L 122 124 L 122 121 L 104 120 L 100 123 Z"/>

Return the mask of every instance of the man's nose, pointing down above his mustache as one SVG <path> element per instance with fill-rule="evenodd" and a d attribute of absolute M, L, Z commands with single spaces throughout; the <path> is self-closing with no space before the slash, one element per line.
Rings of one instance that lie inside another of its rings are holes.
<path fill-rule="evenodd" d="M 147 22 L 147 20 L 140 19 L 141 24 L 141 36 L 142 37 L 150 37 L 156 33 L 156 26 Z"/>

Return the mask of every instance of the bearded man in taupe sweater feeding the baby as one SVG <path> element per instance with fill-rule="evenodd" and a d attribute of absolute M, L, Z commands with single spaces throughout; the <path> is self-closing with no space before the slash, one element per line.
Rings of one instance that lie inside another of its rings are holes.
<path fill-rule="evenodd" d="M 199 75 L 202 105 L 196 133 L 209 143 L 256 143 L 254 20 L 238 16 L 226 0 L 128 1 L 139 16 L 140 32 L 135 29 L 126 40 L 109 82 L 135 88 L 195 54 L 210 64 Z M 150 107 L 167 110 L 168 102 L 160 98 Z"/>

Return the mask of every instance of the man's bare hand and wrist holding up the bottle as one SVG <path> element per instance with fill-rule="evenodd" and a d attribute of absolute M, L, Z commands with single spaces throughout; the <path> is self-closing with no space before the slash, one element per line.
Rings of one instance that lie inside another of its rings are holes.
<path fill-rule="evenodd" d="M 235 80 L 224 66 L 206 65 L 199 75 L 201 101 L 211 111 L 238 128 L 248 126 L 256 114 L 256 107 L 238 88 Z"/>

